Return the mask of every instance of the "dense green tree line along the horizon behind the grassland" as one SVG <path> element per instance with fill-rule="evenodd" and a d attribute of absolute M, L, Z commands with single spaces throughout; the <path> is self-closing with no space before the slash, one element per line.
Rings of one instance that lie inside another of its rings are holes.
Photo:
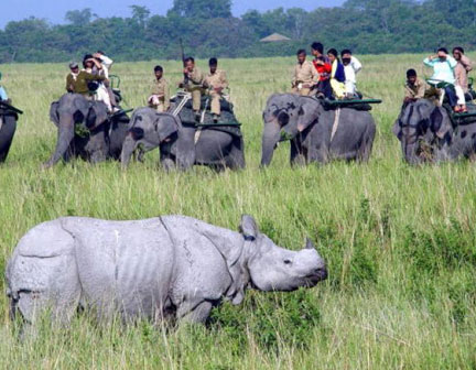
<path fill-rule="evenodd" d="M 0 63 L 64 62 L 104 50 L 117 61 L 177 59 L 180 39 L 197 57 L 292 55 L 318 40 L 358 54 L 415 53 L 476 45 L 476 0 L 348 0 L 305 11 L 282 8 L 231 13 L 231 0 L 174 0 L 166 15 L 130 7 L 128 18 L 68 11 L 65 24 L 30 18 L 0 30 Z M 292 41 L 260 43 L 271 33 Z"/>

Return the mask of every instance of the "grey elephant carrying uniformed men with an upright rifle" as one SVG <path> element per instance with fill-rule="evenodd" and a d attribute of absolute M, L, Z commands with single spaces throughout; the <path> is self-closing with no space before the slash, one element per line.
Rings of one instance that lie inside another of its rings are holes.
<path fill-rule="evenodd" d="M 167 170 L 187 170 L 194 164 L 218 171 L 245 167 L 245 144 L 239 130 L 217 126 L 197 131 L 195 126 L 182 123 L 178 117 L 148 107 L 132 113 L 121 154 L 123 167 L 138 148 L 143 152 L 160 148 L 161 163 Z"/>

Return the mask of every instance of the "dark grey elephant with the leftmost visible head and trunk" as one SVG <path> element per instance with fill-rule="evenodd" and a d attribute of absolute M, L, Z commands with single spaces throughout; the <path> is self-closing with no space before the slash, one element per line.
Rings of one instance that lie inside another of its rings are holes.
<path fill-rule="evenodd" d="M 68 161 L 72 156 L 93 163 L 119 160 L 129 132 L 127 115 L 110 118 L 102 101 L 90 101 L 79 94 L 68 92 L 51 105 L 50 118 L 58 128 L 58 135 L 46 167 L 55 165 L 62 157 Z"/>

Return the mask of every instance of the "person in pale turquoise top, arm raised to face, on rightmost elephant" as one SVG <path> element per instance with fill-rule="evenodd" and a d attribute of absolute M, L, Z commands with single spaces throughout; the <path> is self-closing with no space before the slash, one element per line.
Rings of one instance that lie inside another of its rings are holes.
<path fill-rule="evenodd" d="M 442 88 L 455 112 L 467 111 L 463 89 L 456 85 L 455 68 L 457 62 L 448 55 L 444 47 L 439 48 L 436 55 L 423 61 L 424 65 L 433 68 L 433 76 L 429 79 L 432 89 Z M 458 102 L 464 102 L 458 105 Z"/>

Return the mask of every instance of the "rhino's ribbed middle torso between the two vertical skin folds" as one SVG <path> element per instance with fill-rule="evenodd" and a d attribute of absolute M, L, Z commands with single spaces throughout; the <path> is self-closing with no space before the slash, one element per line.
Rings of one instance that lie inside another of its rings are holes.
<path fill-rule="evenodd" d="M 162 308 L 174 269 L 174 248 L 159 218 L 105 221 L 64 218 L 75 238 L 84 300 L 109 313 L 153 316 Z"/>

